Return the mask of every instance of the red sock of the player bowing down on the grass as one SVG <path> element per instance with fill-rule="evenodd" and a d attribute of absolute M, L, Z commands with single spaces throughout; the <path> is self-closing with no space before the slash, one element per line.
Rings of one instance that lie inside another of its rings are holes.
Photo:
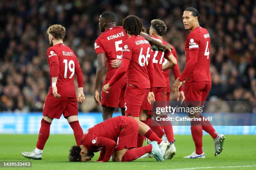
<path fill-rule="evenodd" d="M 152 151 L 152 145 L 146 145 L 141 148 L 135 148 L 128 150 L 125 155 L 123 155 L 122 162 L 130 162 L 136 160 L 142 155 Z"/>

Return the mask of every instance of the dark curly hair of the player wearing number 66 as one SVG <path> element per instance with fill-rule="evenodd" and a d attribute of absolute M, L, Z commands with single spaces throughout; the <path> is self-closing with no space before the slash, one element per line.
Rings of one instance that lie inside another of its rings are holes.
<path fill-rule="evenodd" d="M 130 35 L 140 35 L 142 31 L 142 20 L 135 15 L 128 15 L 123 20 L 123 29 L 126 34 Z"/>

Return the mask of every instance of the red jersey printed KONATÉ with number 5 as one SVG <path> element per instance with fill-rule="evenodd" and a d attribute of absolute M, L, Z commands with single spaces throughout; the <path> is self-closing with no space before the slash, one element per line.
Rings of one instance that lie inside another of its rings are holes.
<path fill-rule="evenodd" d="M 96 55 L 104 53 L 107 57 L 107 80 L 110 80 L 117 71 L 117 69 L 111 67 L 110 63 L 112 60 L 122 59 L 122 46 L 127 39 L 128 35 L 122 27 L 110 27 L 95 40 Z M 126 75 L 123 77 L 126 77 Z"/>

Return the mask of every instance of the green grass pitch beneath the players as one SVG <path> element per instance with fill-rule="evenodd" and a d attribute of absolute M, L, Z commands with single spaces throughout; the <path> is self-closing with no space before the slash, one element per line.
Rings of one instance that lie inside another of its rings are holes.
<path fill-rule="evenodd" d="M 35 148 L 37 135 L 0 135 L 0 161 L 32 162 L 32 168 L 8 168 L 8 170 L 256 169 L 256 136 L 226 135 L 223 153 L 215 157 L 214 142 L 209 135 L 204 135 L 203 146 L 206 158 L 195 160 L 183 159 L 183 156 L 195 150 L 191 135 L 176 135 L 175 138 L 177 155 L 172 160 L 160 163 L 154 158 L 138 159 L 129 163 L 70 163 L 68 154 L 69 148 L 75 143 L 73 135 L 50 135 L 42 160 L 31 160 L 21 155 L 22 151 L 31 151 Z M 96 160 L 99 153 L 96 153 L 92 160 Z"/>

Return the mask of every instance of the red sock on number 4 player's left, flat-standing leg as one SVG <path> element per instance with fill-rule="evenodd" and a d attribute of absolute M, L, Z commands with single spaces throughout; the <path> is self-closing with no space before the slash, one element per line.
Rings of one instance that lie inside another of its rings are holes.
<path fill-rule="evenodd" d="M 191 134 L 196 147 L 196 154 L 201 155 L 202 150 L 202 125 L 200 121 L 191 121 Z"/>

